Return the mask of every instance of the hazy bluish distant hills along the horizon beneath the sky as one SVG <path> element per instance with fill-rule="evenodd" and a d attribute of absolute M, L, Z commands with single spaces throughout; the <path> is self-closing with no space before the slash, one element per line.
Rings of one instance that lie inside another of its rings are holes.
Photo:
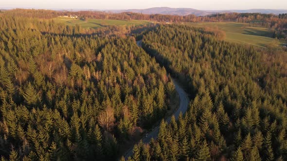
<path fill-rule="evenodd" d="M 128 10 L 104 10 L 111 13 L 134 12 L 142 14 L 162 14 L 162 15 L 195 15 L 207 16 L 216 13 L 262 13 L 262 14 L 283 14 L 287 13 L 287 9 L 249 9 L 249 10 L 197 10 L 193 8 L 169 8 L 169 7 L 153 7 L 147 9 L 128 9 Z"/>

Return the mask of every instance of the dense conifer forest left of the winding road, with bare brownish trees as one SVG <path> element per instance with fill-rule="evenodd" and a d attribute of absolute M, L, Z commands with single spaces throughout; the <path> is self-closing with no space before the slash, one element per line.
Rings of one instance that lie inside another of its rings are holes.
<path fill-rule="evenodd" d="M 0 16 L 2 160 L 115 160 L 160 120 L 174 84 L 133 38 Z"/>

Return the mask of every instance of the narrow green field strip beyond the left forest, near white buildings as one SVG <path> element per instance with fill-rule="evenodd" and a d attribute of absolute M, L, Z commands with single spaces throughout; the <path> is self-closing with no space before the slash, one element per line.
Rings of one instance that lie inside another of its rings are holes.
<path fill-rule="evenodd" d="M 151 23 L 150 21 L 146 20 L 113 20 L 113 19 L 73 19 L 73 18 L 66 18 L 66 17 L 57 17 L 54 18 L 54 21 L 57 23 L 64 23 L 66 25 L 74 26 L 76 24 L 80 25 L 83 28 L 101 28 L 107 26 L 124 26 L 124 25 L 144 25 Z"/>

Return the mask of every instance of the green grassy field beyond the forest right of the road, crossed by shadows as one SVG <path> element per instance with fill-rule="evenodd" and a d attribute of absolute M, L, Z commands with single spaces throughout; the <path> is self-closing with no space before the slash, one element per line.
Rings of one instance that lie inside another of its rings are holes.
<path fill-rule="evenodd" d="M 225 40 L 229 42 L 266 47 L 275 40 L 271 38 L 273 33 L 267 28 L 249 27 L 248 24 L 244 23 L 204 22 L 186 24 L 194 27 L 218 28 L 226 33 Z"/>

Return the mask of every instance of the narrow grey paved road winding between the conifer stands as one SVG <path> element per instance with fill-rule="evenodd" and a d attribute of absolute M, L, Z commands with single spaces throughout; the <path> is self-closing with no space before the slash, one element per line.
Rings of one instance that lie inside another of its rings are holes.
<path fill-rule="evenodd" d="M 137 41 L 137 45 L 139 47 L 142 47 L 142 40 L 140 41 Z M 174 84 L 175 84 L 175 88 L 176 88 L 176 91 L 177 93 L 179 94 L 179 100 L 180 100 L 180 103 L 179 103 L 179 108 L 178 110 L 173 114 L 175 116 L 176 119 L 179 118 L 179 113 L 182 113 L 184 114 L 186 111 L 187 111 L 187 107 L 188 107 L 188 104 L 189 104 L 189 99 L 187 97 L 187 94 L 185 93 L 185 91 L 179 86 L 179 84 L 174 81 Z M 171 120 L 171 117 L 167 118 L 165 121 L 167 123 L 169 123 Z M 156 139 L 158 137 L 158 134 L 159 134 L 159 130 L 160 130 L 160 126 L 157 126 L 156 128 L 154 128 L 150 133 L 148 133 L 147 136 L 143 136 L 142 138 L 142 141 L 143 143 L 147 144 L 150 142 L 151 138 L 153 139 Z M 127 160 L 128 157 L 130 157 L 132 155 L 132 152 L 133 152 L 133 147 L 128 149 L 128 151 L 125 153 L 125 159 Z"/>

